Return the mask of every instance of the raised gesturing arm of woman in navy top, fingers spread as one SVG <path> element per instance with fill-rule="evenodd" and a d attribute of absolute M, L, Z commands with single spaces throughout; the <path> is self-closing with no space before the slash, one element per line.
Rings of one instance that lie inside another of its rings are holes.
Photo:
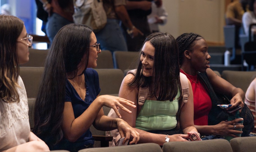
<path fill-rule="evenodd" d="M 131 111 L 123 105 L 131 106 L 133 108 L 135 107 L 133 102 L 126 99 L 109 95 L 98 96 L 79 117 L 75 118 L 72 103 L 65 102 L 62 118 L 63 123 L 61 125 L 64 137 L 70 142 L 75 142 L 86 130 L 90 128 L 96 117 L 100 118 L 104 115 L 102 106 L 113 108 L 119 117 L 121 117 L 121 115 L 119 114 L 117 107 L 131 113 Z M 110 126 L 113 124 L 108 124 L 106 127 L 109 129 L 112 129 L 111 127 L 116 128 L 116 126 Z"/>

